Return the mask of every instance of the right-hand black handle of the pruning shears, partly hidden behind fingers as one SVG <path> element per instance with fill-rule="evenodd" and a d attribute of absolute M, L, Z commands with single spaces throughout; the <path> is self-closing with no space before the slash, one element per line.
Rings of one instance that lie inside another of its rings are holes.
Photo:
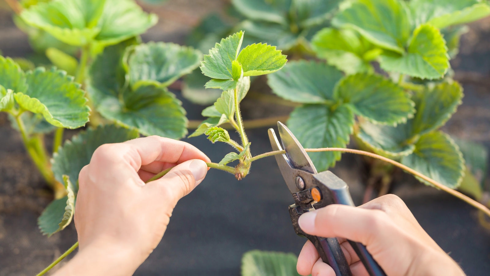
<path fill-rule="evenodd" d="M 344 186 L 342 188 L 339 187 L 339 189 L 335 189 L 333 187 L 329 187 L 329 188 L 334 196 L 335 203 L 350 205 L 354 207 L 356 206 L 352 201 L 352 197 L 350 196 L 347 186 Z M 383 269 L 373 259 L 371 254 L 368 252 L 368 249 L 366 249 L 366 247 L 363 244 L 356 243 L 353 241 L 349 241 L 349 243 L 352 246 L 352 248 L 354 248 L 354 251 L 356 251 L 357 255 L 359 256 L 359 259 L 361 259 L 361 261 L 363 262 L 370 276 L 386 276 Z"/>

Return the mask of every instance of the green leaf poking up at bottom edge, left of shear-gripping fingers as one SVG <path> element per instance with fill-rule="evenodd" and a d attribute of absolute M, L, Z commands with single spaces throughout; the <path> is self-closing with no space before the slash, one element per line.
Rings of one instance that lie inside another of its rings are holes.
<path fill-rule="evenodd" d="M 299 276 L 293 253 L 251 250 L 242 257 L 242 276 Z"/>

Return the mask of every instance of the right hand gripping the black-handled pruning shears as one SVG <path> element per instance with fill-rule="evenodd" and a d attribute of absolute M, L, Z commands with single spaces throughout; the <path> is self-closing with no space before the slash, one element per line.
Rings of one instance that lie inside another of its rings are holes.
<path fill-rule="evenodd" d="M 303 214 L 298 222 L 307 234 L 339 237 L 353 276 L 368 276 L 368 272 L 346 239 L 366 245 L 387 276 L 465 275 L 393 194 L 359 207 L 329 205 Z M 335 276 L 310 241 L 303 246 L 296 268 L 303 276 Z"/>

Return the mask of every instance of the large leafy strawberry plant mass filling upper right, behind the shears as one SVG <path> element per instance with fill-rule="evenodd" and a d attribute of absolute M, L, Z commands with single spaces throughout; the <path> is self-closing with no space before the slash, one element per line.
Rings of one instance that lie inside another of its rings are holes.
<path fill-rule="evenodd" d="M 454 189 L 464 159 L 439 128 L 461 104 L 463 89 L 450 77 L 448 51 L 457 53 L 458 25 L 489 13 L 477 0 L 353 1 L 312 40 L 326 62 L 290 62 L 269 76 L 269 85 L 303 104 L 288 126 L 305 146 L 346 147 L 354 135 L 361 147 Z M 375 72 L 375 63 L 389 78 Z M 325 170 L 341 155 L 311 158 Z"/>

